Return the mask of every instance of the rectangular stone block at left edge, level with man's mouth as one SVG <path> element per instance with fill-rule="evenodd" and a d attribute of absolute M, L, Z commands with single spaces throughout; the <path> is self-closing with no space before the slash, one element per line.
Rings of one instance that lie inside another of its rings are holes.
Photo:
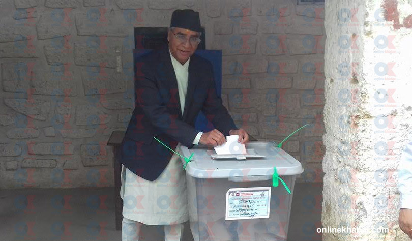
<path fill-rule="evenodd" d="M 37 58 L 37 42 L 33 39 L 28 41 L 16 41 L 0 43 L 0 58 Z"/>

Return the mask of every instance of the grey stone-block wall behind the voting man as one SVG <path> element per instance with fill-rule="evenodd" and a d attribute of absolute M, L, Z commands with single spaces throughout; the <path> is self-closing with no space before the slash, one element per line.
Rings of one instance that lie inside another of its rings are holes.
<path fill-rule="evenodd" d="M 107 140 L 133 108 L 133 27 L 200 12 L 223 50 L 224 105 L 259 140 L 281 141 L 322 182 L 323 5 L 292 0 L 0 2 L 0 188 L 113 185 Z"/>

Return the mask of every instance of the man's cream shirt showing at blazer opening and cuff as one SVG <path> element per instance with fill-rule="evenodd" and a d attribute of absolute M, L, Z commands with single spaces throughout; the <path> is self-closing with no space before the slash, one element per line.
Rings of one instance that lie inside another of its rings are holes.
<path fill-rule="evenodd" d="M 186 92 L 187 92 L 187 84 L 189 80 L 189 62 L 190 58 L 186 61 L 184 65 L 182 65 L 177 59 L 173 57 L 170 52 L 170 59 L 173 65 L 174 73 L 176 74 L 176 79 L 178 80 L 178 91 L 179 91 L 179 99 L 180 99 L 180 107 L 182 109 L 182 115 L 185 109 L 185 100 L 186 100 Z M 199 131 L 194 138 L 192 144 L 198 145 L 200 137 L 202 136 L 203 132 Z"/>

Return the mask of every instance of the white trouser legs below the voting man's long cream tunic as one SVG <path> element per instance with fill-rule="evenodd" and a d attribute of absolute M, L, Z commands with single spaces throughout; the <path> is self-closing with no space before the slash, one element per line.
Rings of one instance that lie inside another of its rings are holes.
<path fill-rule="evenodd" d="M 148 237 L 141 233 L 142 223 L 127 218 L 122 221 L 122 241 L 148 240 Z M 164 225 L 165 241 L 182 241 L 184 224 Z"/>

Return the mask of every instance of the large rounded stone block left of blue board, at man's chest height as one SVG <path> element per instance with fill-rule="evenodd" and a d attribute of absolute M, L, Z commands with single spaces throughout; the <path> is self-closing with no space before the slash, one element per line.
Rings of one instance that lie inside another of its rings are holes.
<path fill-rule="evenodd" d="M 127 87 L 127 78 L 115 69 L 89 67 L 81 72 L 81 78 L 86 96 L 122 93 Z"/>

